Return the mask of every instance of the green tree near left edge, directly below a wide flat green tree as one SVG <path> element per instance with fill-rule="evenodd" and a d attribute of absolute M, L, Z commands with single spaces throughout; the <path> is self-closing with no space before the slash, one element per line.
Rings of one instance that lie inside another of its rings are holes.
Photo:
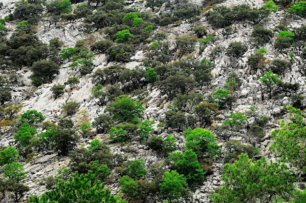
<path fill-rule="evenodd" d="M 30 139 L 37 133 L 35 127 L 31 127 L 28 122 L 23 123 L 14 136 L 22 146 L 29 144 Z"/>

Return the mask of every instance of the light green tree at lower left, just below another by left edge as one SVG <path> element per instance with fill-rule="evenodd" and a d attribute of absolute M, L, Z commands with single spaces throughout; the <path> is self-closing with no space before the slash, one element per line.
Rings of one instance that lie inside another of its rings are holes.
<path fill-rule="evenodd" d="M 23 165 L 21 163 L 12 162 L 7 163 L 2 167 L 3 177 L 9 180 L 13 180 L 16 183 L 26 178 Z"/>

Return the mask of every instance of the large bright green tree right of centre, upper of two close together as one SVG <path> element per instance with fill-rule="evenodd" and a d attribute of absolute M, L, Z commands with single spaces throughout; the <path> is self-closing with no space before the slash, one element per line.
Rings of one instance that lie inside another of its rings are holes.
<path fill-rule="evenodd" d="M 216 136 L 203 128 L 188 128 L 183 132 L 187 149 L 192 149 L 197 157 L 217 158 L 221 155 L 221 148 L 216 143 Z"/>

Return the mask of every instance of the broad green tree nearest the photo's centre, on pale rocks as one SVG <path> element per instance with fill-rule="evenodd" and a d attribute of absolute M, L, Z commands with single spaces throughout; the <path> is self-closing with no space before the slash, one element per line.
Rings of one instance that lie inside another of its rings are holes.
<path fill-rule="evenodd" d="M 112 102 L 107 110 L 113 114 L 116 121 L 133 121 L 134 119 L 143 118 L 145 110 L 138 100 L 131 100 L 126 96 L 121 96 L 115 102 Z"/>

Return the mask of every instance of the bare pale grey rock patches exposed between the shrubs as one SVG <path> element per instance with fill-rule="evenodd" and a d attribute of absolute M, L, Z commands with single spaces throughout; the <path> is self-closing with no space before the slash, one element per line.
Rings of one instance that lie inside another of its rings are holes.
<path fill-rule="evenodd" d="M 0 10 L 0 17 L 7 15 L 12 12 L 14 9 L 15 1 L 14 0 L 2 0 L 3 7 Z M 142 1 L 138 1 L 142 2 Z M 175 3 L 173 1 L 172 3 Z M 191 4 L 199 5 L 201 0 L 189 0 Z M 243 2 L 240 0 L 226 0 L 222 4 L 227 6 L 233 6 L 241 3 L 246 3 L 252 7 L 260 7 L 263 4 L 262 0 L 244 0 Z M 165 7 L 165 6 L 164 6 Z M 163 7 L 161 8 L 161 10 Z M 165 8 L 166 9 L 166 8 Z M 272 13 L 268 22 L 265 22 L 264 27 L 273 29 L 277 24 L 281 22 L 283 18 L 282 11 L 278 11 L 276 13 Z M 64 24 L 62 28 L 57 29 L 53 26 L 50 28 L 44 27 L 41 25 L 41 29 L 38 31 L 37 35 L 39 38 L 48 43 L 53 38 L 59 38 L 65 42 L 65 46 L 74 46 L 75 42 L 78 40 L 84 39 L 86 36 L 84 33 L 78 31 L 77 27 L 81 22 L 77 22 L 74 24 Z M 301 24 L 305 24 L 305 19 L 299 19 L 292 21 L 288 27 L 298 27 Z M 196 24 L 196 25 L 195 25 Z M 207 99 L 212 92 L 217 90 L 218 88 L 224 88 L 224 82 L 227 79 L 228 75 L 235 71 L 239 74 L 241 79 L 240 87 L 238 90 L 233 93 L 235 97 L 237 97 L 237 102 L 235 102 L 232 106 L 234 112 L 242 112 L 244 114 L 249 114 L 252 111 L 252 107 L 256 107 L 256 112 L 259 115 L 265 115 L 270 118 L 270 128 L 266 129 L 266 136 L 263 138 L 263 142 L 258 143 L 256 141 L 252 141 L 247 138 L 244 129 L 235 134 L 230 140 L 238 140 L 242 143 L 253 144 L 258 147 L 261 151 L 262 156 L 266 156 L 268 158 L 274 158 L 273 154 L 269 151 L 269 145 L 272 142 L 269 140 L 269 133 L 272 128 L 277 126 L 277 116 L 281 115 L 283 104 L 288 104 L 288 97 L 279 98 L 275 100 L 268 99 L 268 92 L 264 91 L 262 83 L 258 81 L 258 79 L 263 75 L 263 69 L 259 69 L 256 72 L 252 72 L 248 69 L 246 64 L 247 57 L 251 54 L 254 54 L 256 48 L 251 47 L 249 45 L 249 41 L 251 38 L 251 34 L 253 28 L 249 24 L 233 24 L 234 32 L 228 37 L 225 37 L 222 34 L 221 29 L 213 29 L 211 25 L 206 21 L 206 17 L 201 16 L 200 19 L 196 23 L 191 23 L 186 21 L 182 21 L 178 25 L 168 25 L 166 27 L 157 27 L 154 32 L 163 31 L 166 33 L 168 40 L 171 46 L 175 44 L 175 37 L 178 35 L 183 35 L 186 33 L 192 33 L 192 29 L 194 26 L 203 25 L 208 28 L 209 33 L 216 33 L 218 36 L 218 40 L 214 42 L 214 44 L 207 45 L 202 53 L 199 51 L 199 47 L 193 53 L 194 58 L 202 59 L 206 58 L 213 63 L 213 81 L 208 87 L 199 90 L 203 93 L 203 96 Z M 97 34 L 100 35 L 100 34 Z M 101 37 L 101 36 L 99 36 Z M 241 41 L 247 44 L 247 51 L 243 55 L 239 61 L 235 61 L 235 59 L 231 59 L 224 54 L 224 50 L 227 48 L 228 44 L 233 41 Z M 288 56 L 284 53 L 277 53 L 272 49 L 272 44 L 274 39 L 265 44 L 263 47 L 267 50 L 265 55 L 267 60 L 270 59 L 287 59 Z M 223 52 L 219 55 L 219 57 L 213 58 L 211 56 L 211 52 L 215 47 L 220 47 Z M 288 53 L 290 49 L 288 49 Z M 104 67 L 113 65 L 114 62 L 109 62 L 107 56 L 105 54 L 99 54 L 94 56 L 95 59 L 93 61 L 94 70 L 98 68 L 103 69 Z M 131 61 L 128 63 L 120 64 L 124 65 L 127 68 L 134 68 L 141 64 L 141 62 L 145 59 L 145 53 L 142 50 L 138 50 L 134 53 L 134 56 L 131 57 Z M 304 65 L 305 60 L 296 57 L 295 63 L 292 64 L 291 70 L 288 70 L 284 74 L 283 81 L 291 82 L 291 83 L 299 83 L 300 90 L 297 94 L 301 96 L 306 96 L 306 87 L 305 87 L 305 73 L 302 73 L 301 67 Z M 88 74 L 84 77 L 80 77 L 80 83 L 75 86 L 73 89 L 68 89 L 66 87 L 66 92 L 64 95 L 59 97 L 58 99 L 54 98 L 53 93 L 50 91 L 50 88 L 54 84 L 64 83 L 69 77 L 72 76 L 80 76 L 79 72 L 71 70 L 69 67 L 69 62 L 63 64 L 60 68 L 60 74 L 56 76 L 56 78 L 51 82 L 44 84 L 38 88 L 34 88 L 31 86 L 30 76 L 31 70 L 29 68 L 22 68 L 22 70 L 17 73 L 23 76 L 22 84 L 14 90 L 13 102 L 22 103 L 24 106 L 22 112 L 25 112 L 29 109 L 36 109 L 37 111 L 43 113 L 45 118 L 49 121 L 54 121 L 58 118 L 63 118 L 63 104 L 66 101 L 77 101 L 80 102 L 80 107 L 78 112 L 72 116 L 72 120 L 74 122 L 78 122 L 79 118 L 82 116 L 81 112 L 87 111 L 88 117 L 92 122 L 95 117 L 97 117 L 100 113 L 104 113 L 105 107 L 99 107 L 96 103 L 90 99 L 90 91 L 94 87 L 91 83 L 91 76 Z M 165 112 L 170 110 L 171 104 L 173 101 L 169 101 L 167 95 L 163 95 L 161 91 L 152 84 L 147 85 L 147 90 L 149 92 L 146 103 L 144 106 L 146 108 L 144 119 L 149 119 L 154 122 L 154 133 L 156 135 L 161 135 L 163 138 L 167 137 L 169 134 L 173 134 L 177 139 L 176 149 L 184 150 L 185 138 L 182 133 L 172 132 L 165 133 L 165 131 L 161 131 L 160 127 L 157 127 L 157 124 L 161 122 L 165 122 Z M 226 118 L 228 118 L 230 112 L 222 112 L 218 117 L 216 117 L 216 121 L 213 124 L 211 130 L 213 132 L 217 132 L 214 128 L 218 126 L 220 123 L 224 122 Z M 255 118 L 253 116 L 249 116 L 246 124 L 254 124 Z M 9 145 L 16 144 L 14 139 L 14 135 L 7 133 L 5 136 L 0 135 L 0 146 L 5 147 Z M 107 140 L 108 135 L 98 134 L 95 138 L 100 139 L 103 142 L 108 143 Z M 87 145 L 91 139 L 84 139 L 80 143 L 81 145 Z M 205 177 L 205 181 L 199 185 L 195 192 L 193 193 L 191 202 L 193 203 L 209 203 L 210 196 L 212 193 L 216 191 L 216 188 L 220 185 L 225 184 L 221 180 L 222 175 L 222 166 L 223 159 L 225 156 L 225 147 L 223 144 L 224 139 L 221 136 L 217 136 L 217 143 L 222 147 L 222 156 L 221 159 L 217 160 L 216 163 L 212 165 L 213 172 L 211 175 Z M 131 142 L 130 144 L 126 144 L 124 146 L 120 146 L 119 144 L 109 144 L 111 152 L 113 154 L 120 154 L 127 157 L 128 160 L 134 159 L 144 159 L 145 166 L 148 168 L 154 164 L 158 164 L 162 162 L 163 158 L 149 147 L 145 146 L 140 142 Z M 24 180 L 24 184 L 28 185 L 31 190 L 27 193 L 25 197 L 28 195 L 41 195 L 45 191 L 45 186 L 39 185 L 38 181 L 46 178 L 48 176 L 54 176 L 57 173 L 57 170 L 61 167 L 67 166 L 69 163 L 69 158 L 67 157 L 57 157 L 56 154 L 48 154 L 48 155 L 39 155 L 37 160 L 33 162 L 26 163 L 24 165 L 25 172 L 27 174 L 27 178 Z M 107 183 L 107 186 L 113 190 L 114 193 L 119 193 L 119 187 L 116 184 L 116 180 L 112 180 Z M 3 200 L 5 202 L 11 201 L 11 199 Z"/>

